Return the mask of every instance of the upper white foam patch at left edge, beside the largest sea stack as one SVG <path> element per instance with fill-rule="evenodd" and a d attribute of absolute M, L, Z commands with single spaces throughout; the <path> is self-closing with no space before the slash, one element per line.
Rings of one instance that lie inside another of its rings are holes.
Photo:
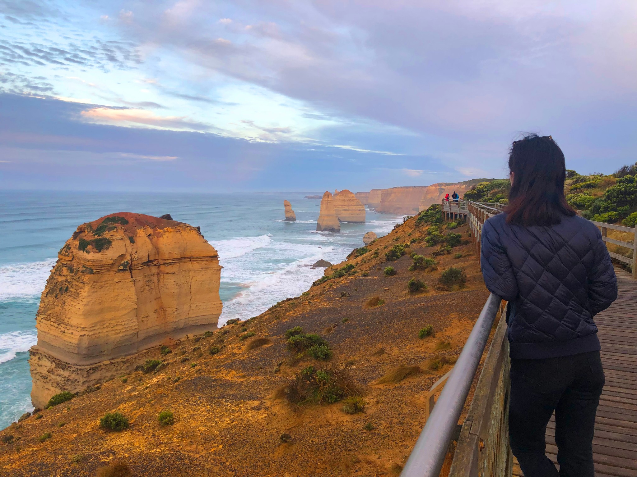
<path fill-rule="evenodd" d="M 54 265 L 50 258 L 0 266 L 0 301 L 37 300 Z"/>

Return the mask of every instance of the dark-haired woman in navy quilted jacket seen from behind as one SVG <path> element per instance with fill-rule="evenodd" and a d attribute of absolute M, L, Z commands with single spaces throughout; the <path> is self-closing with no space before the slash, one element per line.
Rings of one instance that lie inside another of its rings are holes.
<path fill-rule="evenodd" d="M 513 142 L 509 170 L 509 204 L 482 229 L 482 275 L 508 301 L 511 448 L 526 477 L 594 477 L 605 377 L 593 317 L 617 298 L 615 271 L 599 229 L 564 198 L 552 137 Z M 559 473 L 545 443 L 554 412 Z"/>

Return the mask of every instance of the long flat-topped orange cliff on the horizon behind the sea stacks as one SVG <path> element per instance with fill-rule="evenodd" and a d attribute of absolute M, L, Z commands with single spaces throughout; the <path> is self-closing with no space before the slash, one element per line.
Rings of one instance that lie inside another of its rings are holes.
<path fill-rule="evenodd" d="M 460 183 L 438 183 L 431 186 L 392 187 L 372 189 L 369 192 L 357 192 L 356 197 L 370 209 L 390 214 L 414 215 L 427 209 L 429 205 L 440 202 L 445 194 L 455 191 L 460 197 L 471 187 L 492 179 L 471 179 Z"/>

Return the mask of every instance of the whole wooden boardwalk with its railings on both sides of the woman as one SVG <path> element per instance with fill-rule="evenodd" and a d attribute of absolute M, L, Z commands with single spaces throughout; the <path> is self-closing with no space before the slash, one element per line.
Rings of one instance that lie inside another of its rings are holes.
<path fill-rule="evenodd" d="M 502 210 L 501 204 L 470 200 L 443 200 L 441 204 L 443 218 L 469 222 L 478 259 L 482 225 Z M 613 259 L 633 268 L 629 273 L 615 266 L 617 300 L 595 316 L 606 375 L 593 439 L 596 477 L 637 477 L 637 228 L 594 224 L 607 245 L 623 247 L 632 255 L 609 251 Z M 608 230 L 631 233 L 633 242 L 608 237 Z M 499 319 L 504 306 L 501 298 L 489 296 L 454 369 L 427 395 L 427 421 L 401 476 L 524 476 L 508 440 L 509 352 L 506 322 Z M 483 357 L 489 338 L 489 350 Z M 468 402 L 475 380 L 475 392 Z M 435 393 L 441 388 L 436 401 Z M 467 407 L 464 421 L 459 421 Z M 557 464 L 554 435 L 552 417 L 547 425 L 547 456 Z"/>

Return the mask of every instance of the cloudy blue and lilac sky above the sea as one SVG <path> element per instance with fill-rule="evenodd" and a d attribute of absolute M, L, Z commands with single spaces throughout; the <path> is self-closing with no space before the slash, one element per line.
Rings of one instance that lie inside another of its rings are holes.
<path fill-rule="evenodd" d="M 633 0 L 0 0 L 0 188 L 354 191 L 634 163 Z"/>

